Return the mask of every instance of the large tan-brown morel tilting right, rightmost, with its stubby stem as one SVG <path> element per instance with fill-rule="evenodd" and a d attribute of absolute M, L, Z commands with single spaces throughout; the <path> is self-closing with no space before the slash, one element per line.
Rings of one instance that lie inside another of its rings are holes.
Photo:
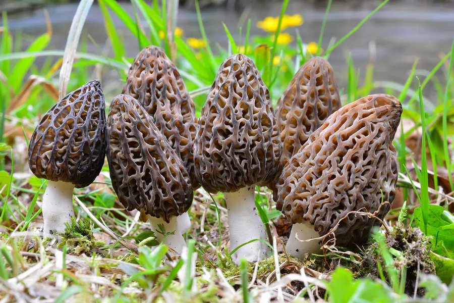
<path fill-rule="evenodd" d="M 351 213 L 377 212 L 382 219 L 395 196 L 396 151 L 392 140 L 402 106 L 391 95 L 361 98 L 335 113 L 315 131 L 288 162 L 279 177 L 277 209 L 293 228 L 287 252 L 295 257 L 320 249 L 319 241 L 299 242 L 327 235 L 336 244 L 365 243 L 376 218 Z M 328 235 L 329 236 L 329 235 Z"/>

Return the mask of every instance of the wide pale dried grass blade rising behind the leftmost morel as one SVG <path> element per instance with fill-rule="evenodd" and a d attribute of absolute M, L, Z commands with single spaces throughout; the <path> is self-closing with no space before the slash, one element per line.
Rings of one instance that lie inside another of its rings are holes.
<path fill-rule="evenodd" d="M 74 57 L 76 56 L 77 45 L 79 44 L 80 34 L 84 27 L 85 19 L 88 16 L 93 0 L 81 0 L 77 7 L 76 14 L 74 15 L 73 22 L 71 23 L 68 40 L 65 47 L 65 55 L 63 55 L 62 69 L 60 70 L 60 83 L 59 83 L 59 98 L 66 95 L 68 89 L 69 79 L 71 77 L 71 70 L 73 68 Z"/>

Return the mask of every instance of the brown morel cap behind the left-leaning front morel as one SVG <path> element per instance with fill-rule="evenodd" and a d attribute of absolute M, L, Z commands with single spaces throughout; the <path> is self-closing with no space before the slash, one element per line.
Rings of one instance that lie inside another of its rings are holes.
<path fill-rule="evenodd" d="M 129 69 L 124 94 L 139 101 L 151 121 L 179 155 L 191 178 L 194 174 L 194 138 L 197 126 L 194 103 L 174 63 L 157 46 L 148 46 L 137 55 Z"/>

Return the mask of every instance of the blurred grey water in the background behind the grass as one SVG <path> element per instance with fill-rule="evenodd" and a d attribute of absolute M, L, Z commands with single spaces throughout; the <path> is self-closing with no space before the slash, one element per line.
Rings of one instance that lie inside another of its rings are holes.
<path fill-rule="evenodd" d="M 341 38 L 366 17 L 377 3 L 362 3 L 360 7 L 352 7 L 344 2 L 334 2 L 325 28 L 323 45 L 326 48 L 332 37 Z M 122 3 L 128 12 L 133 14 L 130 4 Z M 47 8 L 53 27 L 52 47 L 64 49 L 67 34 L 77 5 L 55 5 Z M 325 8 L 313 6 L 304 2 L 290 3 L 288 14 L 301 14 L 304 24 L 298 30 L 304 42 L 317 41 L 323 21 Z M 266 16 L 277 16 L 280 12 L 280 3 L 260 5 L 255 4 L 252 9 L 245 11 L 209 8 L 202 11 L 202 18 L 208 39 L 223 46 L 227 44 L 222 22 L 233 31 L 242 20 L 251 19 L 252 34 L 263 34 L 256 27 L 256 23 Z M 112 14 L 113 15 L 113 14 Z M 124 37 L 128 55 L 133 57 L 138 51 L 136 39 L 118 19 L 115 24 Z M 144 22 L 144 24 L 146 24 Z M 244 23 L 240 23 L 244 25 Z M 184 29 L 185 36 L 200 37 L 197 15 L 195 11 L 180 8 L 178 26 Z M 27 14 L 10 16 L 10 27 L 21 29 L 24 34 L 37 36 L 45 32 L 45 20 L 42 10 Z M 96 41 L 96 45 L 88 39 L 88 52 L 100 54 L 100 48 L 106 42 L 106 34 L 99 8 L 94 5 L 87 18 L 84 31 Z M 294 34 L 295 28 L 286 30 Z M 238 36 L 238 33 L 236 34 Z M 25 36 L 26 37 L 26 36 Z M 367 21 L 353 36 L 348 38 L 331 54 L 332 64 L 338 78 L 339 85 L 343 86 L 347 80 L 346 58 L 351 52 L 361 75 L 371 60 L 370 45 L 375 45 L 374 79 L 376 81 L 396 81 L 404 83 L 416 59 L 419 59 L 418 69 L 430 70 L 440 59 L 442 54 L 449 52 L 454 38 L 454 5 L 421 3 L 414 1 L 395 1 L 385 7 Z M 238 39 L 237 39 L 238 40 Z M 421 73 L 420 73 L 421 74 Z M 443 74 L 437 74 L 442 77 Z M 421 78 L 422 79 L 422 78 Z M 431 91 L 432 90 L 432 91 Z M 433 89 L 428 87 L 425 95 L 433 96 Z"/>

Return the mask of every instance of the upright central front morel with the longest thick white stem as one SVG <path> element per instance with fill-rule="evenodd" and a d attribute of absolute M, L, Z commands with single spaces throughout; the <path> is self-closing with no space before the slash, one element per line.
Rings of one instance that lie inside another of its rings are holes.
<path fill-rule="evenodd" d="M 195 140 L 197 178 L 206 190 L 224 193 L 228 208 L 230 250 L 252 239 L 265 239 L 254 203 L 255 185 L 264 186 L 278 172 L 281 143 L 268 88 L 251 59 L 226 59 L 202 108 Z M 256 261 L 267 246 L 249 243 L 233 254 Z"/>

